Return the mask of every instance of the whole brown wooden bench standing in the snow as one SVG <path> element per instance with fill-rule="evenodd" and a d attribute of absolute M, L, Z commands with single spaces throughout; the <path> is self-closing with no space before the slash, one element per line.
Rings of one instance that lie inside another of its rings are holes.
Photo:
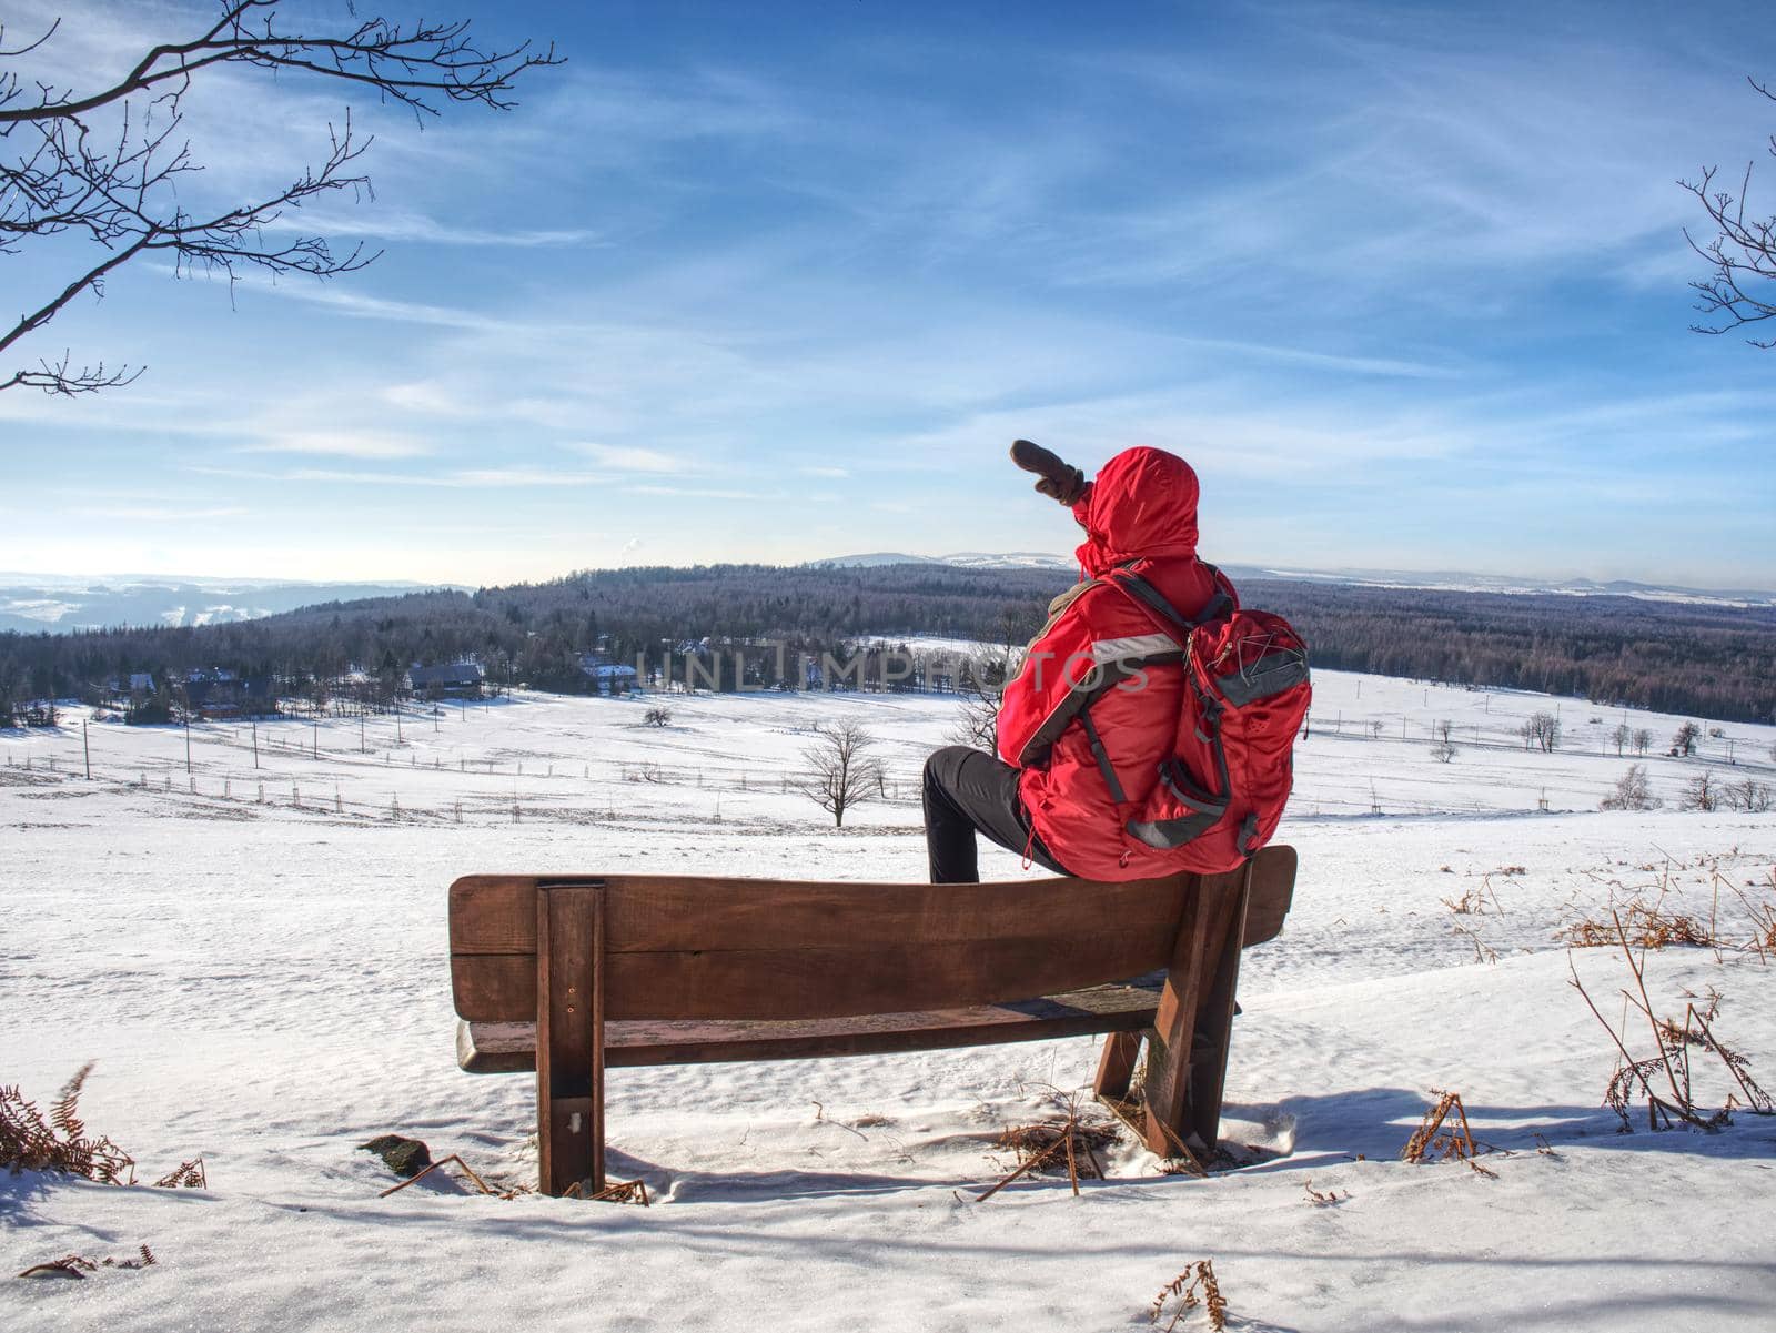
<path fill-rule="evenodd" d="M 536 1070 L 542 1189 L 604 1189 L 604 1072 L 1110 1033 L 1147 1042 L 1146 1143 L 1215 1148 L 1241 946 L 1282 930 L 1295 850 L 1133 884 L 469 875 L 449 889 L 456 1058 Z M 1133 980 L 1130 980 L 1133 978 Z"/>

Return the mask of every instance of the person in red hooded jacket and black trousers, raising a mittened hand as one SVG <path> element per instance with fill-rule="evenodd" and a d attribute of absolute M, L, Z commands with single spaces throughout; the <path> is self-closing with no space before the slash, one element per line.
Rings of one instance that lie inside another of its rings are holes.
<path fill-rule="evenodd" d="M 925 847 L 932 884 L 980 879 L 975 832 L 1060 875 L 1130 880 L 1170 873 L 1163 854 L 1131 838 L 1130 811 L 1153 792 L 1169 756 L 1185 676 L 1176 637 L 1128 593 L 1105 582 L 1138 573 L 1172 609 L 1195 618 L 1233 586 L 1197 559 L 1197 474 L 1162 449 L 1124 449 L 1085 481 L 1028 440 L 1012 460 L 1085 529 L 1082 582 L 1048 607 L 998 714 L 1000 758 L 966 745 L 925 763 Z"/>

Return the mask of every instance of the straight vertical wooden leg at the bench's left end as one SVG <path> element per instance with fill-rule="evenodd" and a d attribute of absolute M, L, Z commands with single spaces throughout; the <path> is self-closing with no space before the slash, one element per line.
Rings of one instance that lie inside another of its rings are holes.
<path fill-rule="evenodd" d="M 604 889 L 536 893 L 538 1187 L 604 1189 Z"/>

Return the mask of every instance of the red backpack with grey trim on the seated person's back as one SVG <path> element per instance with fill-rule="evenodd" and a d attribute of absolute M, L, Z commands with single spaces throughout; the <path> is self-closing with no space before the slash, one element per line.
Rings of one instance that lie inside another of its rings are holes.
<path fill-rule="evenodd" d="M 1282 616 L 1234 611 L 1225 595 L 1190 619 L 1138 573 L 1115 570 L 1105 582 L 1185 650 L 1172 758 L 1124 829 L 1176 852 L 1179 870 L 1233 870 L 1270 841 L 1289 801 L 1295 733 L 1312 701 L 1307 644 Z"/>

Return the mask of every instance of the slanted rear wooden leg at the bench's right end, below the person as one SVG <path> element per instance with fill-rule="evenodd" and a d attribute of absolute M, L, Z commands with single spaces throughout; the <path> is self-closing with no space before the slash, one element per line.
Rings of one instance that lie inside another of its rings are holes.
<path fill-rule="evenodd" d="M 1249 870 L 1206 875 L 1185 907 L 1177 946 L 1147 1033 L 1147 1148 L 1209 1154 L 1220 1132 L 1227 1033 L 1240 974 Z"/>

